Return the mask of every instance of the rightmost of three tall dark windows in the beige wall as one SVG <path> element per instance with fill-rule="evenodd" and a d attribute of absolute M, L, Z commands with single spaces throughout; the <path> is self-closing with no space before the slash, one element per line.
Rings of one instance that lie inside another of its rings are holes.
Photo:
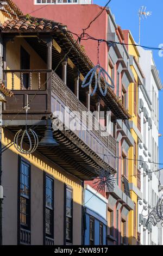
<path fill-rule="evenodd" d="M 66 242 L 72 243 L 73 191 L 66 186 Z"/>

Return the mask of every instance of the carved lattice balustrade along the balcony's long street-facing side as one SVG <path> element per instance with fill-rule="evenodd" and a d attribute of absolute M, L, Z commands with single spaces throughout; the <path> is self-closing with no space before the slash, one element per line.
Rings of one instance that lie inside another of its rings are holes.
<path fill-rule="evenodd" d="M 101 153 L 101 157 L 103 155 L 105 159 L 109 158 L 109 161 L 111 161 L 113 158 L 111 155 L 116 156 L 115 138 L 109 135 L 108 132 L 104 131 L 104 127 L 99 124 L 98 120 L 94 117 L 94 115 L 92 115 L 92 113 L 87 113 L 87 108 L 83 105 L 83 103 L 79 101 L 76 95 L 73 94 L 73 92 L 54 72 L 52 74 L 52 92 L 57 95 L 58 99 L 60 99 L 60 101 L 62 101 L 64 105 L 70 109 L 70 111 L 75 113 L 81 123 L 83 123 L 87 128 L 89 127 L 89 129 L 92 128 L 90 129 L 91 131 L 88 131 L 88 129 L 85 131 L 84 141 L 86 144 L 88 144 L 89 140 L 87 137 L 92 135 L 90 142 L 91 145 L 89 143 L 89 147 L 91 147 L 96 153 Z M 92 127 L 89 123 L 90 120 L 92 121 Z M 80 136 L 79 132 L 78 136 Z M 97 139 L 99 139 L 98 143 Z M 108 160 L 106 160 L 106 162 L 108 162 Z"/>

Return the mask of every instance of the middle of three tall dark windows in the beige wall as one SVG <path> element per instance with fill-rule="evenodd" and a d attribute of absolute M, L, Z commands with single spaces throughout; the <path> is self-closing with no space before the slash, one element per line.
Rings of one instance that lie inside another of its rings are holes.
<path fill-rule="evenodd" d="M 45 175 L 45 234 L 54 238 L 54 180 Z"/>

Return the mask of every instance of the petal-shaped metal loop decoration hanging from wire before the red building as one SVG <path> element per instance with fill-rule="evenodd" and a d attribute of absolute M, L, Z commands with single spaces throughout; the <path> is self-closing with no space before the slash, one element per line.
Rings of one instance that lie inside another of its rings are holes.
<path fill-rule="evenodd" d="M 91 75 L 91 76 L 90 76 Z M 90 80 L 89 82 L 86 83 L 87 79 L 89 78 L 90 76 Z M 93 92 L 92 92 L 92 80 L 93 80 L 93 77 L 95 77 L 95 88 L 93 89 Z M 103 91 L 102 89 L 102 86 L 101 86 L 101 77 L 104 78 L 104 81 L 105 81 L 105 89 Z M 106 81 L 106 78 L 109 78 L 109 81 L 110 83 L 108 83 Z M 96 93 L 96 90 L 97 90 L 97 87 L 99 87 L 99 90 L 101 92 L 101 94 L 103 96 L 106 96 L 106 93 L 107 93 L 107 90 L 108 90 L 108 87 L 114 89 L 115 86 L 114 86 L 114 82 L 112 81 L 111 77 L 109 76 L 109 74 L 106 72 L 106 70 L 104 70 L 99 64 L 96 65 L 93 69 L 91 69 L 86 77 L 84 78 L 84 81 L 82 83 L 82 88 L 85 88 L 89 86 L 89 90 L 90 92 L 92 92 L 90 95 L 93 96 L 95 95 Z"/>

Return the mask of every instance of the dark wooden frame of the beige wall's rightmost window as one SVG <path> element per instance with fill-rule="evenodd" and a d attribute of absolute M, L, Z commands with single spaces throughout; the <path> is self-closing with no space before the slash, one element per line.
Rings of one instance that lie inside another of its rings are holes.
<path fill-rule="evenodd" d="M 71 199 L 71 217 L 66 215 L 66 209 L 67 209 L 67 190 L 72 193 L 72 199 Z M 65 192 L 64 192 L 64 243 L 65 245 L 72 245 L 73 244 L 73 188 L 65 184 Z M 66 218 L 71 218 L 71 239 L 68 240 L 66 238 Z"/>

